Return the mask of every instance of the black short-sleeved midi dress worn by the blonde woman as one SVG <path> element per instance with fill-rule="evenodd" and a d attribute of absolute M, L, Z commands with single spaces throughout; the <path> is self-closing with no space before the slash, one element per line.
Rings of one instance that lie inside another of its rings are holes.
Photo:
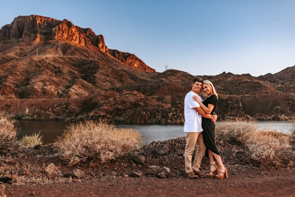
<path fill-rule="evenodd" d="M 211 111 L 211 114 L 213 114 L 217 106 L 217 96 L 212 94 L 211 96 L 209 96 L 203 101 L 203 104 L 206 107 L 208 107 L 209 104 L 214 105 L 214 108 Z M 203 140 L 204 140 L 204 144 L 206 145 L 205 156 L 209 158 L 208 150 L 220 156 L 220 153 L 217 150 L 215 145 L 215 134 L 214 134 L 215 124 L 211 121 L 211 119 L 204 118 L 202 116 L 202 128 L 203 128 Z"/>

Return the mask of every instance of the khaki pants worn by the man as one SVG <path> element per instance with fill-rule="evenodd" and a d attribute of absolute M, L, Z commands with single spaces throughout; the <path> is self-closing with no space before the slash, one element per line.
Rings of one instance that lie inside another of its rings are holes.
<path fill-rule="evenodd" d="M 196 143 L 198 146 L 197 153 L 193 163 L 193 167 L 191 167 L 191 158 L 193 156 Z M 190 173 L 193 170 L 199 171 L 205 150 L 206 146 L 203 142 L 202 132 L 186 132 L 186 148 L 184 152 L 184 165 L 186 173 Z"/>

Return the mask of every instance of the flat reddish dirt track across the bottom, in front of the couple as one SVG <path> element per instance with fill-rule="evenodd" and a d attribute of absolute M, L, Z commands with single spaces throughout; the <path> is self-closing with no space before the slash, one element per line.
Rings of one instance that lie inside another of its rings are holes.
<path fill-rule="evenodd" d="M 294 196 L 294 175 L 294 170 L 269 174 L 254 170 L 245 175 L 230 174 L 223 180 L 102 177 L 66 184 L 6 185 L 5 193 L 7 196 Z"/>

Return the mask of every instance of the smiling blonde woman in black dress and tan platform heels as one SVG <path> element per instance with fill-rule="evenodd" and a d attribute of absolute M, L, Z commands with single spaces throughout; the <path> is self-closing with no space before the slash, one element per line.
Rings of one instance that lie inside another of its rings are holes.
<path fill-rule="evenodd" d="M 201 102 L 197 96 L 193 96 L 193 100 L 197 101 L 201 108 L 206 114 L 213 114 L 217 106 L 218 95 L 215 91 L 213 84 L 205 80 L 202 84 L 202 89 L 206 93 L 207 98 Z M 224 167 L 220 153 L 215 145 L 215 124 L 209 118 L 202 117 L 202 128 L 203 128 L 203 140 L 206 145 L 205 156 L 210 159 L 210 172 L 207 177 L 213 177 L 215 172 L 215 177 L 222 179 L 223 177 L 228 178 L 227 169 Z M 215 165 L 215 160 L 218 163 L 218 167 Z"/>

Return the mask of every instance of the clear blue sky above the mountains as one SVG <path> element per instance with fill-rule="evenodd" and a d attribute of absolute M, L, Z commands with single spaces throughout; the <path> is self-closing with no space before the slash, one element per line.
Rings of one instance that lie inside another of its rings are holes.
<path fill-rule="evenodd" d="M 295 65 L 295 1 L 0 1 L 0 27 L 31 14 L 68 19 L 158 72 L 253 76 Z"/>

